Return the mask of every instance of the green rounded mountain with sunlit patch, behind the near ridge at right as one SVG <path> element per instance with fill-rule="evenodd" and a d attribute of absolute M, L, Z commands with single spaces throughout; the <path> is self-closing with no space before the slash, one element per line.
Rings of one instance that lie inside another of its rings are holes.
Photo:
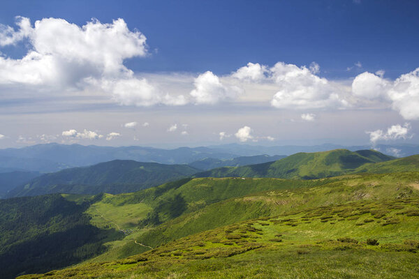
<path fill-rule="evenodd" d="M 275 162 L 243 167 L 221 167 L 200 172 L 196 177 L 277 177 L 283 179 L 316 179 L 356 172 L 365 164 L 392 160 L 374 150 L 348 151 L 336 149 L 316 153 L 296 153 Z"/>

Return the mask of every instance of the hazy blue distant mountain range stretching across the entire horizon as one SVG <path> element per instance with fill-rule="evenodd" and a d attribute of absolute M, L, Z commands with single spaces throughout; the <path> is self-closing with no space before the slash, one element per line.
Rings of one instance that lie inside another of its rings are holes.
<path fill-rule="evenodd" d="M 356 151 L 369 149 L 370 146 L 340 146 L 337 144 L 315 146 L 253 146 L 249 144 L 222 144 L 193 148 L 157 149 L 144 146 L 112 147 L 51 143 L 37 144 L 20 149 L 0 149 L 0 169 L 20 169 L 45 173 L 57 172 L 69 167 L 94 165 L 110 160 L 135 160 L 138 162 L 161 164 L 190 164 L 207 158 L 230 160 L 240 156 L 260 156 L 261 154 L 268 156 L 289 156 L 298 152 L 319 152 L 343 148 Z M 419 145 L 413 144 L 378 144 L 376 149 L 398 157 L 411 156 L 419 153 Z M 222 166 L 219 165 L 216 167 Z"/>

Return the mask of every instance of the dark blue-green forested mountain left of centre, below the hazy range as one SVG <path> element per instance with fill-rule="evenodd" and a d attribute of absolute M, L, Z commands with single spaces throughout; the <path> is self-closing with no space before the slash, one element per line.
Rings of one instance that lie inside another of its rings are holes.
<path fill-rule="evenodd" d="M 126 193 L 157 186 L 166 181 L 198 172 L 188 165 L 140 163 L 112 160 L 90 167 L 75 167 L 43 174 L 11 190 L 6 197 L 45 195 L 50 193 L 98 194 Z"/>

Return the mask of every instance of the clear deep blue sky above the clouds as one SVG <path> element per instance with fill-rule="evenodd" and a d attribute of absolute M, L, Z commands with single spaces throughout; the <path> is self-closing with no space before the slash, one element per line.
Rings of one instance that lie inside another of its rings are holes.
<path fill-rule="evenodd" d="M 17 2 L 17 3 L 16 3 Z M 419 65 L 418 1 L 6 1 L 0 22 L 15 15 L 60 17 L 83 25 L 124 18 L 158 50 L 138 71 L 212 70 L 219 75 L 249 61 L 319 63 L 326 77 L 349 77 L 362 61 L 389 77 Z"/>

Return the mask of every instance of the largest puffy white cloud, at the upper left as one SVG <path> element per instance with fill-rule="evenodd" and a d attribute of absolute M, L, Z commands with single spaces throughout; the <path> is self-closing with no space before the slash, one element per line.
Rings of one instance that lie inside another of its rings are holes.
<path fill-rule="evenodd" d="M 145 56 L 145 36 L 129 31 L 122 19 L 111 24 L 98 20 L 82 27 L 59 18 L 44 18 L 31 27 L 17 18 L 19 29 L 2 27 L 0 45 L 28 38 L 30 48 L 22 59 L 0 57 L 0 84 L 80 86 L 84 78 L 132 75 L 124 59 Z"/>

